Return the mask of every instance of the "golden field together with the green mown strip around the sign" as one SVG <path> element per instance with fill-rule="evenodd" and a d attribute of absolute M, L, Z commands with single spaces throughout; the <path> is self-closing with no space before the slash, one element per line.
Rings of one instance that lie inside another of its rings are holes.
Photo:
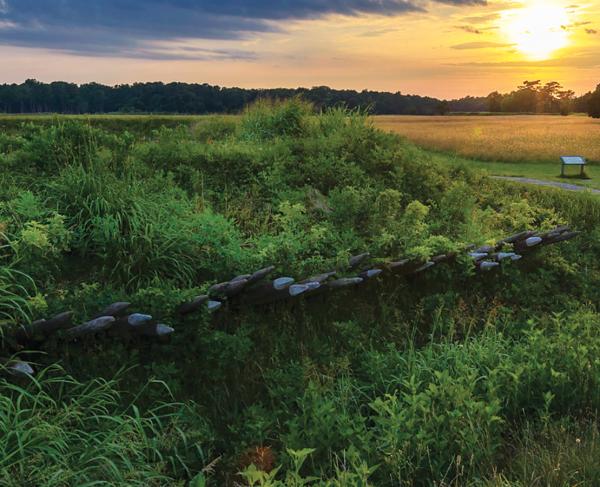
<path fill-rule="evenodd" d="M 600 188 L 600 121 L 583 116 L 380 116 L 375 124 L 445 155 L 444 163 L 466 164 L 496 176 L 521 176 Z M 560 177 L 561 155 L 582 155 L 590 179 L 578 168 Z"/>

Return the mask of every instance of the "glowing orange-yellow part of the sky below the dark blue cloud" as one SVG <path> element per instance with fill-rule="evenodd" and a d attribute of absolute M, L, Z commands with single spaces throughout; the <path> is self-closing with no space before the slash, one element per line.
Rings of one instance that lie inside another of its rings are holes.
<path fill-rule="evenodd" d="M 0 17 L 0 30 L 6 31 L 2 22 Z M 285 20 L 283 25 L 270 22 L 274 32 L 241 39 L 144 41 L 144 49 L 168 53 L 165 59 L 11 45 L 9 33 L 0 40 L 0 82 L 37 78 L 107 84 L 161 80 L 241 87 L 329 85 L 444 98 L 508 91 L 525 79 L 557 80 L 577 93 L 600 83 L 597 0 L 578 6 L 572 6 L 572 0 L 437 3 L 428 5 L 427 12 L 395 16 L 327 15 Z M 185 59 L 193 49 L 249 55 Z M 182 59 L 177 58 L 180 52 Z"/>

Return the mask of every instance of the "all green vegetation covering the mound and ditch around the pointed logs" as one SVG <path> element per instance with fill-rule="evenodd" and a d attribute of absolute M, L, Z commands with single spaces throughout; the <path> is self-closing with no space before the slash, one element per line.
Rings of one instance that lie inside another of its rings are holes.
<path fill-rule="evenodd" d="M 597 198 L 500 184 L 296 99 L 106 123 L 0 134 L 0 329 L 127 300 L 176 333 L 51 340 L 35 380 L 3 374 L 3 485 L 597 485 Z M 583 236 L 498 273 L 175 312 L 269 264 L 304 277 L 563 223 Z"/>

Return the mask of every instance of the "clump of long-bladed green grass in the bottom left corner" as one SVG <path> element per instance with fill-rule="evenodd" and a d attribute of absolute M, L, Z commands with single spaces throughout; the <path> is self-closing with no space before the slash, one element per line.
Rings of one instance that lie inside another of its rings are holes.
<path fill-rule="evenodd" d="M 182 459 L 201 466 L 208 438 L 182 427 L 182 404 L 142 413 L 124 399 L 115 380 L 80 382 L 56 366 L 26 384 L 0 379 L 0 484 L 183 485 L 194 472 Z"/>

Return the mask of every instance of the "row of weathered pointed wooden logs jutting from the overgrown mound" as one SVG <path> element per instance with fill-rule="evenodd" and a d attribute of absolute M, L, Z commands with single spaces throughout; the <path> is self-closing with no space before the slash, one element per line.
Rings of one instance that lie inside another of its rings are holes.
<path fill-rule="evenodd" d="M 578 232 L 561 226 L 548 232 L 521 232 L 500 240 L 496 245 L 466 249 L 468 256 L 478 271 L 489 272 L 502 265 L 503 262 L 518 261 L 524 255 L 540 247 L 564 242 L 575 238 Z M 368 265 L 370 254 L 364 253 L 349 259 L 342 272 L 330 271 L 296 281 L 292 277 L 278 277 L 267 280 L 275 271 L 274 266 L 260 269 L 253 274 L 234 277 L 230 281 L 215 284 L 207 294 L 197 296 L 190 302 L 182 304 L 178 313 L 189 315 L 202 309 L 209 312 L 219 310 L 225 303 L 239 306 L 267 305 L 278 301 L 315 296 L 342 289 L 350 289 L 362 285 L 372 279 L 385 276 L 409 276 L 422 273 L 439 264 L 456 259 L 457 253 L 437 255 L 428 261 L 403 259 L 374 265 Z M 344 274 L 340 277 L 339 274 Z M 348 276 L 348 274 L 352 274 Z M 144 336 L 163 339 L 175 330 L 161 324 L 152 316 L 141 313 L 128 313 L 130 303 L 113 303 L 92 317 L 90 321 L 73 326 L 71 312 L 61 313 L 47 320 L 38 320 L 28 326 L 19 328 L 13 336 L 4 337 L 5 344 L 13 351 L 20 351 L 25 346 L 39 346 L 51 336 L 65 341 L 75 341 L 100 332 L 108 332 L 115 336 Z M 9 361 L 5 370 L 12 375 L 23 376 L 34 373 L 27 362 Z"/>

